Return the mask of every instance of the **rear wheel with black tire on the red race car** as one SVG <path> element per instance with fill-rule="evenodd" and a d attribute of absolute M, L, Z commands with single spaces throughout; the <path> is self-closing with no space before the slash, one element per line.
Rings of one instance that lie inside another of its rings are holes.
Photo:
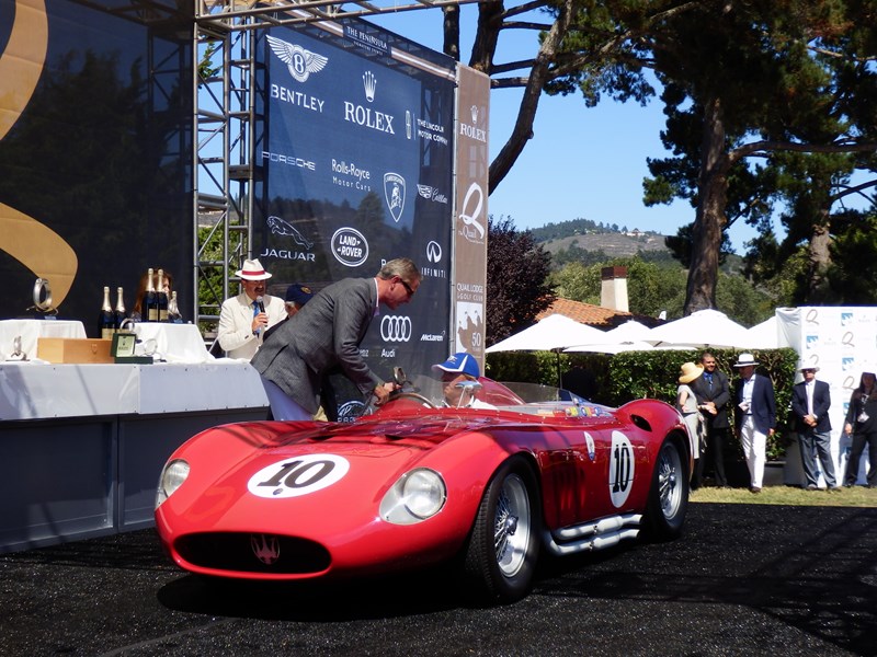
<path fill-rule="evenodd" d="M 643 519 L 648 540 L 670 541 L 682 533 L 688 509 L 688 472 L 683 453 L 673 438 L 665 439 L 658 452 Z"/>

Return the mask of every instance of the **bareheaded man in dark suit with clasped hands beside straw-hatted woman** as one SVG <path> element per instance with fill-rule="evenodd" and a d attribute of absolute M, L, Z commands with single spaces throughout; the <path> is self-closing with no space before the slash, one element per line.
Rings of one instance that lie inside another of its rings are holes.
<path fill-rule="evenodd" d="M 706 419 L 706 445 L 701 446 L 701 458 L 694 464 L 692 491 L 704 483 L 707 465 L 713 466 L 716 486 L 726 488 L 728 477 L 725 475 L 725 442 L 730 423 L 728 422 L 728 402 L 731 391 L 728 377 L 716 369 L 716 357 L 709 351 L 701 355 L 704 373 L 692 381 L 691 389 L 697 397 L 697 406 Z"/>

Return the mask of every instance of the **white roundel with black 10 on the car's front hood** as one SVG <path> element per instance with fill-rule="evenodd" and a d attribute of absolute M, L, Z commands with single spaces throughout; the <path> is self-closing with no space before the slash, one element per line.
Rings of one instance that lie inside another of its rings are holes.
<path fill-rule="evenodd" d="M 341 481 L 349 470 L 350 462 L 335 454 L 289 457 L 257 472 L 247 488 L 271 499 L 300 497 Z"/>

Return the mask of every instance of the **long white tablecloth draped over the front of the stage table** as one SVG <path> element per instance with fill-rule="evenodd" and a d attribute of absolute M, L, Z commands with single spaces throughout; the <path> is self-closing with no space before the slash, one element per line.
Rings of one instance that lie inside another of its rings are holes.
<path fill-rule="evenodd" d="M 0 362 L 0 420 L 267 406 L 246 361 L 53 365 Z"/>

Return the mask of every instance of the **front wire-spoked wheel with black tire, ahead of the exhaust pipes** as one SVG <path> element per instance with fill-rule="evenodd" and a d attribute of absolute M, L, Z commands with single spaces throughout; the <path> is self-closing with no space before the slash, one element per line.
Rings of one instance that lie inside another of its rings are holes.
<path fill-rule="evenodd" d="M 513 457 L 490 480 L 466 545 L 464 575 L 475 600 L 506 603 L 529 592 L 540 528 L 536 477 L 523 458 Z"/>

